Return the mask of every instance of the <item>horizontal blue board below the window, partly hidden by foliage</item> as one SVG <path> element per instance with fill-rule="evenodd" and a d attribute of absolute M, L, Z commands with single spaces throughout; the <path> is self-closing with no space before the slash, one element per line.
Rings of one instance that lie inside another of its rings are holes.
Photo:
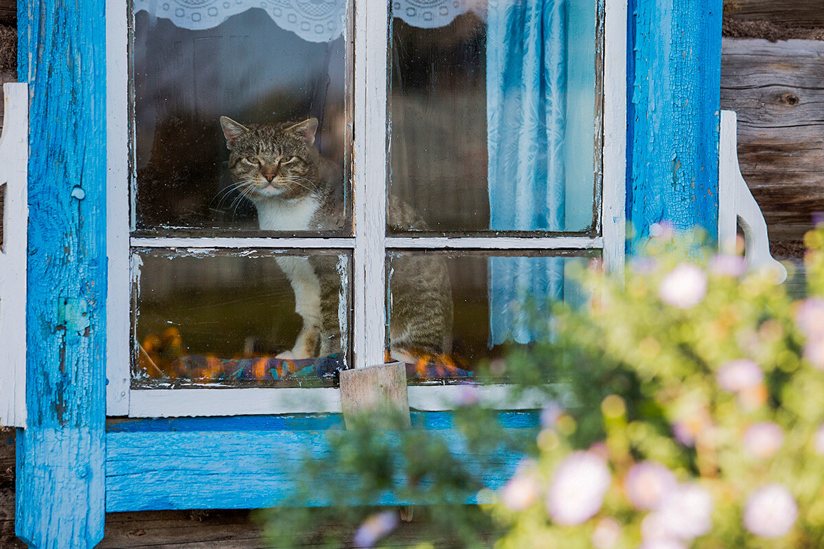
<path fill-rule="evenodd" d="M 534 431 L 535 412 L 502 412 L 508 429 Z M 462 437 L 443 412 L 415 412 L 415 426 L 438 431 L 470 470 L 482 471 L 488 486 L 503 484 L 522 456 L 501 454 L 492 466 L 466 451 Z M 334 463 L 328 430 L 343 430 L 340 416 L 274 418 L 189 418 L 126 421 L 106 436 L 106 509 L 246 509 L 283 502 L 295 493 L 298 471 L 309 456 Z M 386 436 L 396 436 L 390 432 Z M 478 463 L 472 469 L 472 463 Z M 345 482 L 330 468 L 329 482 Z M 325 502 L 319 486 L 312 505 Z M 405 502 L 382 500 L 380 505 Z"/>

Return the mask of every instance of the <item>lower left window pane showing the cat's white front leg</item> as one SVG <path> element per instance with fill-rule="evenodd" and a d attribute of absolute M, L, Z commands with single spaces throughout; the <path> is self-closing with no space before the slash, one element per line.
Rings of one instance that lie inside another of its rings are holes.
<path fill-rule="evenodd" d="M 133 386 L 332 384 L 349 365 L 349 256 L 133 254 Z"/>

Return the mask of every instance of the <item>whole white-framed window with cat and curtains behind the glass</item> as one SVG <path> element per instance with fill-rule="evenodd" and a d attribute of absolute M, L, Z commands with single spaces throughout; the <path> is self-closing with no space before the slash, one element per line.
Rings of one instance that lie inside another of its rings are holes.
<path fill-rule="evenodd" d="M 334 412 L 387 355 L 443 409 L 529 342 L 623 261 L 618 3 L 111 0 L 108 413 Z"/>

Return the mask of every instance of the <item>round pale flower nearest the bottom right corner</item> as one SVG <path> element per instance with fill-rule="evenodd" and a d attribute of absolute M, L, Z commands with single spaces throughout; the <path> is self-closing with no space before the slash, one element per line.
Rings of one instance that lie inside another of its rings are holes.
<path fill-rule="evenodd" d="M 781 537 L 798 519 L 798 505 L 789 490 L 768 484 L 754 491 L 744 508 L 744 526 L 761 537 Z"/>

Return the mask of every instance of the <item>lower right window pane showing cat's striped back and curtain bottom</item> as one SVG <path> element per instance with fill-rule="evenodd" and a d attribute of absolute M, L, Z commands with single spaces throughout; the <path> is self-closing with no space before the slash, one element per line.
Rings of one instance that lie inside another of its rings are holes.
<path fill-rule="evenodd" d="M 551 306 L 586 301 L 569 276 L 592 254 L 390 252 L 389 354 L 410 382 L 472 376 L 505 347 L 545 337 Z"/>

